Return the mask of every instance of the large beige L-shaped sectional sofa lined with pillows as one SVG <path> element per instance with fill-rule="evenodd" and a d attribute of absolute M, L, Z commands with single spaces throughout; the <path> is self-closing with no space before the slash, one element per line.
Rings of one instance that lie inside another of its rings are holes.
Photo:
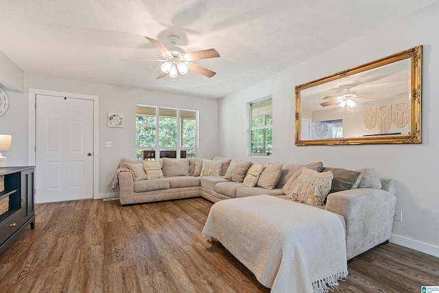
<path fill-rule="evenodd" d="M 352 171 L 323 167 L 322 162 L 261 165 L 222 156 L 163 161 L 123 159 L 117 173 L 119 200 L 127 205 L 201 196 L 217 202 L 262 194 L 290 199 L 294 198 L 292 191 L 299 190 L 300 194 L 303 189 L 302 167 L 316 174 L 332 174 L 329 194 L 323 204 L 313 206 L 336 213 L 344 222 L 348 259 L 388 241 L 396 207 L 394 183 L 379 178 L 370 167 Z M 300 201 L 309 204 L 309 199 Z"/>

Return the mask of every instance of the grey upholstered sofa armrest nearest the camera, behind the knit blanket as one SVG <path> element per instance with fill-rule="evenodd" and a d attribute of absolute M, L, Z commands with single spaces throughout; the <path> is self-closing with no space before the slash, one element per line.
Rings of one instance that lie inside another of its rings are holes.
<path fill-rule="evenodd" d="M 396 196 L 383 189 L 359 188 L 329 194 L 325 209 L 346 221 L 348 259 L 390 238 Z"/>

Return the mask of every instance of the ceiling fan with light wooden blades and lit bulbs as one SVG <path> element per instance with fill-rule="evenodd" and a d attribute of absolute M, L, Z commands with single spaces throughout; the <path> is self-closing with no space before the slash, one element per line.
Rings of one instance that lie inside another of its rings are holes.
<path fill-rule="evenodd" d="M 150 38 L 147 36 L 145 36 L 145 38 L 161 51 L 161 54 L 164 58 L 161 60 L 139 60 L 163 62 L 160 67 L 161 73 L 157 76 L 156 79 L 164 78 L 166 75 L 169 75 L 170 78 L 175 80 L 178 77 L 178 73 L 180 73 L 181 75 L 185 75 L 189 70 L 204 75 L 208 78 L 211 78 L 213 75 L 216 74 L 216 72 L 201 67 L 200 65 L 196 65 L 191 61 L 219 57 L 217 50 L 205 49 L 186 53 L 185 50 L 176 46 L 178 40 L 180 40 L 178 36 L 172 35 L 168 37 L 169 42 L 172 44 L 169 49 L 167 49 L 160 41 L 155 40 L 154 38 Z"/>

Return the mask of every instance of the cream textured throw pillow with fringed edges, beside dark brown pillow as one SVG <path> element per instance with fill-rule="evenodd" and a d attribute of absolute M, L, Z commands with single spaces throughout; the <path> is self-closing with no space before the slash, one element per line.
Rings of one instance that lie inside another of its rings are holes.
<path fill-rule="evenodd" d="M 331 190 L 333 174 L 302 167 L 302 172 L 287 193 L 287 198 L 307 204 L 322 205 Z"/>

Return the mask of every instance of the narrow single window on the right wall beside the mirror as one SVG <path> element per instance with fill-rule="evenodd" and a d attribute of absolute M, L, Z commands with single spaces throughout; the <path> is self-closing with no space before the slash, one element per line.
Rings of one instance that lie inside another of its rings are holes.
<path fill-rule="evenodd" d="M 273 105 L 272 98 L 250 103 L 250 154 L 273 154 Z"/>

